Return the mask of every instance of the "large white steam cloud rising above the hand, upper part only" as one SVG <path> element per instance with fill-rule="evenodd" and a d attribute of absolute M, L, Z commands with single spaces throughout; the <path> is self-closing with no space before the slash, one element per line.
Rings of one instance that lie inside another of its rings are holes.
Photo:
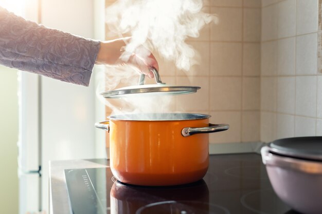
<path fill-rule="evenodd" d="M 106 9 L 106 24 L 111 35 L 132 36 L 126 51 L 149 44 L 178 69 L 188 71 L 194 64 L 194 50 L 186 39 L 198 37 L 204 25 L 217 22 L 202 7 L 202 0 L 118 0 Z"/>

